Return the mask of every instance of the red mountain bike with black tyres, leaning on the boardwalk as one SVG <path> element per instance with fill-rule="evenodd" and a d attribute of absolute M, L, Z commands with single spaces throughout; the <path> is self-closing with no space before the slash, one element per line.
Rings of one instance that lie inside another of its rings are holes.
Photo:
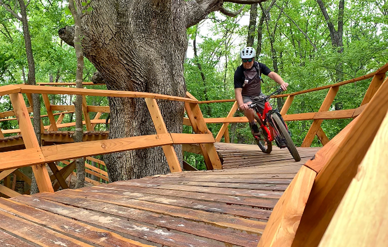
<path fill-rule="evenodd" d="M 253 136 L 255 137 L 257 145 L 264 153 L 269 154 L 272 151 L 272 141 L 275 140 L 278 147 L 287 147 L 294 160 L 300 161 L 298 150 L 296 150 L 294 142 L 291 139 L 291 133 L 288 131 L 287 124 L 284 123 L 280 112 L 277 109 L 272 109 L 268 101 L 272 95 L 279 94 L 282 91 L 282 88 L 279 88 L 270 95 L 248 105 L 249 108 L 255 110 L 257 114 L 257 116 L 255 114 L 255 119 L 258 125 L 260 125 L 259 133 Z M 262 114 L 260 113 L 262 111 L 259 107 L 260 103 L 264 103 Z"/>

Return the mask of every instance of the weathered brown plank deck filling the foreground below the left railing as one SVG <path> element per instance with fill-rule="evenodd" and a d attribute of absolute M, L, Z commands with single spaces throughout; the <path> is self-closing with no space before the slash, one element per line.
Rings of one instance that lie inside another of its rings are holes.
<path fill-rule="evenodd" d="M 0 246 L 256 247 L 301 167 L 274 154 L 286 158 L 1 198 Z"/>

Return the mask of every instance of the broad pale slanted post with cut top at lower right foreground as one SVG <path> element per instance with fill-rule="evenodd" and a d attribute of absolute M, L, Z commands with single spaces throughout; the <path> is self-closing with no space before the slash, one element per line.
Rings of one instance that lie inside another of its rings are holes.
<path fill-rule="evenodd" d="M 317 173 L 302 166 L 277 202 L 258 247 L 290 247 Z"/>

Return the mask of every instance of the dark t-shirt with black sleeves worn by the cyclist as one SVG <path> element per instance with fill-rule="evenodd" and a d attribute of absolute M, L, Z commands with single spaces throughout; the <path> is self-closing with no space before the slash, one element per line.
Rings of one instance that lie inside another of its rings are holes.
<path fill-rule="evenodd" d="M 261 75 L 257 73 L 255 66 L 258 67 L 260 73 L 266 76 L 271 72 L 265 64 L 260 62 L 254 62 L 251 69 L 245 69 L 241 64 L 234 73 L 234 88 L 242 88 L 242 95 L 258 96 L 262 91 Z"/>

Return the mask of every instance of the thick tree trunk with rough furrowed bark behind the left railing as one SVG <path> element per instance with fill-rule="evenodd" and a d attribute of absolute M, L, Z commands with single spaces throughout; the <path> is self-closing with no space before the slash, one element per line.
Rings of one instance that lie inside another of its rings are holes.
<path fill-rule="evenodd" d="M 77 0 L 78 4 L 80 0 Z M 225 1 L 226 2 L 226 1 Z M 257 0 L 228 2 L 257 3 Z M 92 1 L 81 23 L 84 55 L 106 79 L 109 90 L 162 93 L 184 97 L 186 28 L 213 11 L 222 0 Z M 184 105 L 158 101 L 169 132 L 182 131 Z M 109 138 L 156 133 L 142 98 L 109 98 Z M 182 160 L 182 148 L 176 149 Z M 161 147 L 104 156 L 110 181 L 169 172 Z"/>

